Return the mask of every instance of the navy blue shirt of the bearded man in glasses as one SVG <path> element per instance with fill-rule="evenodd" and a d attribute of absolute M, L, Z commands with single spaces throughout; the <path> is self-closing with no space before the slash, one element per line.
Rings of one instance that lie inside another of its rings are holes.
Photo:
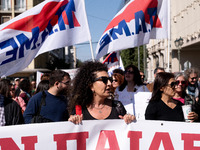
<path fill-rule="evenodd" d="M 40 115 L 44 118 L 50 119 L 54 122 L 67 121 L 67 100 L 64 96 L 54 96 L 49 92 L 45 91 L 46 105 L 42 106 Z M 35 94 L 28 102 L 26 110 L 24 111 L 25 123 L 31 123 L 31 119 L 36 115 L 38 108 L 40 107 L 42 99 L 42 92 Z"/>

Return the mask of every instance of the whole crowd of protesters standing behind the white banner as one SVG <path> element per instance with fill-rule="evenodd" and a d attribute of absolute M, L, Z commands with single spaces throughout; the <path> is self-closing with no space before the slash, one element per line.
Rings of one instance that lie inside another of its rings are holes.
<path fill-rule="evenodd" d="M 144 72 L 129 65 L 125 71 L 115 69 L 111 76 L 100 62 L 86 61 L 73 80 L 67 72 L 45 73 L 36 86 L 26 78 L 0 80 L 0 126 L 82 120 L 136 120 L 134 96 L 151 92 L 145 109 L 146 120 L 185 121 L 182 106 L 191 106 L 190 122 L 200 121 L 199 70 L 169 73 L 154 70 L 148 83 Z"/>

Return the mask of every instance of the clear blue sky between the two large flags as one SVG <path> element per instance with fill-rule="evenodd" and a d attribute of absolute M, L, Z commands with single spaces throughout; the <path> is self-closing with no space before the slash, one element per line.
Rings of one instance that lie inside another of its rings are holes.
<path fill-rule="evenodd" d="M 121 9 L 123 3 L 124 0 L 85 0 L 94 57 L 96 56 L 97 42 L 112 18 Z M 76 49 L 79 60 L 86 61 L 92 59 L 89 43 L 76 45 Z"/>

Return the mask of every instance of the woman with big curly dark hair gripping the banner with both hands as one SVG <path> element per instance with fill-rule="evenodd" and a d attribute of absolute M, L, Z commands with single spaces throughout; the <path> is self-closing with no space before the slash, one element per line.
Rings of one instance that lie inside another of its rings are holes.
<path fill-rule="evenodd" d="M 130 123 L 135 119 L 135 116 L 126 114 L 121 102 L 108 99 L 112 78 L 107 71 L 107 66 L 100 62 L 82 64 L 73 82 L 69 121 L 79 124 L 82 120 L 121 118 Z"/>

